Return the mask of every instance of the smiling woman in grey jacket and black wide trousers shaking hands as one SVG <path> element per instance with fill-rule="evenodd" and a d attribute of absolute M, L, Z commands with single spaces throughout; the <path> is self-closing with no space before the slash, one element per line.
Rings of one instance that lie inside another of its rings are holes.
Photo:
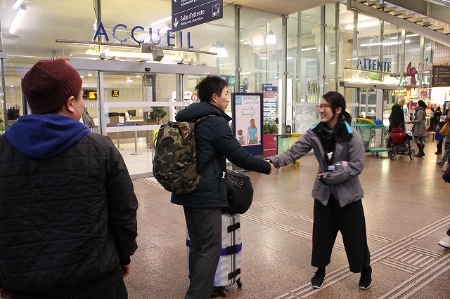
<path fill-rule="evenodd" d="M 292 164 L 314 150 L 319 170 L 312 191 L 311 265 L 317 267 L 317 271 L 311 286 L 323 286 L 325 268 L 330 263 L 336 236 L 341 232 L 350 271 L 361 272 L 359 288 L 367 289 L 372 285 L 371 254 L 361 201 L 364 192 L 358 178 L 364 169 L 364 142 L 350 126 L 352 117 L 345 111 L 345 99 L 340 93 L 326 93 L 317 106 L 321 122 L 304 133 L 289 150 L 266 159 L 280 167 Z M 328 171 L 330 168 L 332 170 Z"/>

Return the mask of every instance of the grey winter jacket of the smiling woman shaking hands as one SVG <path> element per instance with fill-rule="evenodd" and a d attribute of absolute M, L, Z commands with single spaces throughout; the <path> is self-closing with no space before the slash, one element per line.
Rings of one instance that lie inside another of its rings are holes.
<path fill-rule="evenodd" d="M 359 133 L 350 127 L 347 122 L 342 127 L 338 139 L 336 140 L 336 148 L 333 154 L 333 161 L 347 161 L 348 167 L 342 172 L 330 172 L 327 170 L 325 153 L 321 145 L 321 140 L 316 132 L 318 126 L 309 129 L 302 138 L 297 140 L 292 147 L 283 154 L 269 157 L 276 167 L 285 166 L 293 163 L 295 160 L 307 154 L 311 149 L 319 161 L 319 173 L 323 173 L 322 180 L 316 178 L 312 189 L 312 196 L 319 200 L 323 205 L 328 204 L 330 194 L 338 199 L 340 206 L 347 206 L 354 201 L 359 201 L 364 197 L 364 192 L 359 182 L 358 175 L 364 168 L 364 142 Z"/>

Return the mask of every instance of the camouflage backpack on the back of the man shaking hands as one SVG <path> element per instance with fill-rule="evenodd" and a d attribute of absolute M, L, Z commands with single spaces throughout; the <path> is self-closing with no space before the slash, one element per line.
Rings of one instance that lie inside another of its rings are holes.
<path fill-rule="evenodd" d="M 197 173 L 194 127 L 212 116 L 195 122 L 169 121 L 161 126 L 153 143 L 153 175 L 165 190 L 183 194 L 197 187 L 201 176 Z"/>

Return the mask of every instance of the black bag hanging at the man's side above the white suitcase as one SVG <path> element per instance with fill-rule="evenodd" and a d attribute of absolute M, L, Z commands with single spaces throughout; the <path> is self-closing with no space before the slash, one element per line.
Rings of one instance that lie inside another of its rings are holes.
<path fill-rule="evenodd" d="M 229 207 L 222 208 L 222 211 L 230 214 L 247 212 L 253 201 L 253 186 L 250 178 L 243 173 L 227 169 L 225 180 Z"/>

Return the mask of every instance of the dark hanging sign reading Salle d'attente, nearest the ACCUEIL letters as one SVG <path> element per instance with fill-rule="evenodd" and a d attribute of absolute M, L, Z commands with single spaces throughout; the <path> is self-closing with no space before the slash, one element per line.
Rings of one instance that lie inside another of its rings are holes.
<path fill-rule="evenodd" d="M 172 32 L 224 17 L 223 0 L 172 0 Z"/>

